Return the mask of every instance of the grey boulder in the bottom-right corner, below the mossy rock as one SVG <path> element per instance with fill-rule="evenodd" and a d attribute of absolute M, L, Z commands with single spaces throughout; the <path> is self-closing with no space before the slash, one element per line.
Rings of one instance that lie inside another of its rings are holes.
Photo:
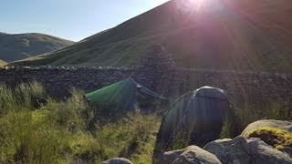
<path fill-rule="evenodd" d="M 250 154 L 251 164 L 275 164 L 275 163 L 291 163 L 292 159 L 282 151 L 273 149 L 268 146 L 260 138 L 249 138 L 247 139 Z"/>

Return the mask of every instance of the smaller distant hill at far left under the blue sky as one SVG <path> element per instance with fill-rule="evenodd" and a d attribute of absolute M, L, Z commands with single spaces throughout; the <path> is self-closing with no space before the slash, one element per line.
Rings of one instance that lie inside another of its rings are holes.
<path fill-rule="evenodd" d="M 0 33 L 0 58 L 11 62 L 29 56 L 41 55 L 72 44 L 71 41 L 43 34 L 10 35 Z"/>

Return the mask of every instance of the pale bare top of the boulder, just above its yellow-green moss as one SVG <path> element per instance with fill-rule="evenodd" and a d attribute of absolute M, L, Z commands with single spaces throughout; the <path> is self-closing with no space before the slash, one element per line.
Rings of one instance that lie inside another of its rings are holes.
<path fill-rule="evenodd" d="M 263 128 L 263 127 L 272 127 L 272 128 L 281 128 L 292 132 L 292 122 L 291 121 L 282 121 L 282 120 L 275 120 L 275 119 L 262 119 L 255 121 L 249 124 L 244 131 L 241 133 L 242 136 L 247 135 L 248 132 L 255 130 L 256 128 Z"/>

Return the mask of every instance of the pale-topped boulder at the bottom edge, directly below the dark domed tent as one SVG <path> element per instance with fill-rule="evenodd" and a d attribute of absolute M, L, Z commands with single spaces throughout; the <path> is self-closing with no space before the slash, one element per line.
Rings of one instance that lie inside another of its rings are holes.
<path fill-rule="evenodd" d="M 193 163 L 214 163 L 221 161 L 216 156 L 197 146 L 189 146 L 186 149 L 165 152 L 160 164 L 193 164 Z"/>

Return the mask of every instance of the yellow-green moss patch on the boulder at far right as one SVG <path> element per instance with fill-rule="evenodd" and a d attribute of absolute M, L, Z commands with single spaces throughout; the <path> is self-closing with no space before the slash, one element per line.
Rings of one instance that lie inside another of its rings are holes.
<path fill-rule="evenodd" d="M 246 135 L 246 138 L 261 138 L 266 144 L 271 145 L 276 149 L 292 147 L 292 133 L 280 128 L 256 128 L 255 130 L 250 131 Z"/>

